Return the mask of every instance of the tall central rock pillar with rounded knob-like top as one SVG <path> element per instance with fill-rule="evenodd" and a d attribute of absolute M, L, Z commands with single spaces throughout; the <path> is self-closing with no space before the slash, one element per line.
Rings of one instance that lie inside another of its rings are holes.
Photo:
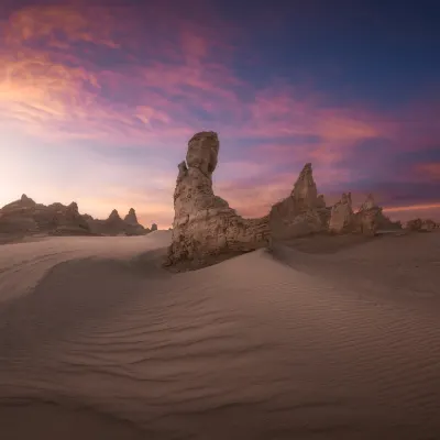
<path fill-rule="evenodd" d="M 243 219 L 215 196 L 212 173 L 219 147 L 215 132 L 197 133 L 188 142 L 186 162 L 178 165 L 166 265 L 184 261 L 204 264 L 210 255 L 252 251 L 270 242 L 267 217 Z"/>

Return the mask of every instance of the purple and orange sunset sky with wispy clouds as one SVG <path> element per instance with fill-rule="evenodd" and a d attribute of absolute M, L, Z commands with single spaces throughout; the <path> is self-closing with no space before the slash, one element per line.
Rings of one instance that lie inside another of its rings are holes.
<path fill-rule="evenodd" d="M 440 220 L 439 22 L 436 0 L 1 0 L 0 206 L 168 228 L 212 130 L 215 193 L 244 217 L 311 162 L 328 204 Z"/>

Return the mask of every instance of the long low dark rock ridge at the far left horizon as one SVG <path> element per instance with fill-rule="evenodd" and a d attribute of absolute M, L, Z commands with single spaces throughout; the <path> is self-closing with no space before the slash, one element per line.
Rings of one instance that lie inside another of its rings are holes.
<path fill-rule="evenodd" d="M 0 232 L 10 234 L 89 234 L 87 221 L 78 212 L 78 206 L 35 204 L 26 195 L 0 210 Z"/>

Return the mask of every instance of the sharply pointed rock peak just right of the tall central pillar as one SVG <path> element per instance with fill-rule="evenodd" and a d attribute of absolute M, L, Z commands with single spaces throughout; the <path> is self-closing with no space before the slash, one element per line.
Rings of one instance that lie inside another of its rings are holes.
<path fill-rule="evenodd" d="M 290 196 L 271 209 L 272 237 L 286 240 L 324 231 L 329 215 L 323 196 L 318 196 L 311 164 L 308 163 L 300 172 Z"/>

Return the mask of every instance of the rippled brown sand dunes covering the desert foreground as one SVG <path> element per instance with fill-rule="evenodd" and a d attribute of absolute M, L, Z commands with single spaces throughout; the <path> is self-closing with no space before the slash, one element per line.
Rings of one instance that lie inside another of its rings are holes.
<path fill-rule="evenodd" d="M 440 438 L 439 239 L 182 274 L 167 232 L 3 245 L 2 438 Z"/>

